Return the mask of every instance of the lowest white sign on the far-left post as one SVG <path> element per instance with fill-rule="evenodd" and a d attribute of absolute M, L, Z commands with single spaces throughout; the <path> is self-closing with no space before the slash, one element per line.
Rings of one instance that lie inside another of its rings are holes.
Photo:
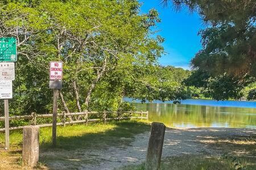
<path fill-rule="evenodd" d="M 13 99 L 13 82 L 11 80 L 0 81 L 0 99 Z"/>

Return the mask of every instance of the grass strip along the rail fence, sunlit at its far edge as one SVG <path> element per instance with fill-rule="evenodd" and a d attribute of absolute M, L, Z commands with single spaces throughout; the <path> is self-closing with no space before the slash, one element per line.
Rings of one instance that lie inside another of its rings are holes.
<path fill-rule="evenodd" d="M 94 147 L 100 149 L 110 145 L 129 145 L 134 135 L 149 130 L 150 125 L 135 121 L 60 127 L 57 130 L 57 148 L 73 150 Z M 42 149 L 51 148 L 51 133 L 51 128 L 40 131 Z"/>

